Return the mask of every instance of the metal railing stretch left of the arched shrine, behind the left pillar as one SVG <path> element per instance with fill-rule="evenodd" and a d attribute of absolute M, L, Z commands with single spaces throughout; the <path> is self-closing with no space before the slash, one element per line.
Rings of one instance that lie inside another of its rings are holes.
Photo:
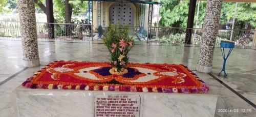
<path fill-rule="evenodd" d="M 20 37 L 19 30 L 20 24 L 18 21 L 0 21 L 0 37 Z M 37 38 L 42 39 L 51 38 L 53 30 L 55 39 L 92 40 L 93 34 L 91 24 L 36 22 L 36 30 Z"/>

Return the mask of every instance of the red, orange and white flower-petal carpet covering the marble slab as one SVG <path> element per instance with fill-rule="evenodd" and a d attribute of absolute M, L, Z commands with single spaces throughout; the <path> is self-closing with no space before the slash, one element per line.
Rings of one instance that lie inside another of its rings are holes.
<path fill-rule="evenodd" d="M 207 93 L 209 87 L 184 65 L 126 65 L 127 73 L 111 74 L 100 62 L 55 61 L 22 83 L 31 89 L 148 93 Z M 87 71 L 87 72 L 84 72 Z"/>

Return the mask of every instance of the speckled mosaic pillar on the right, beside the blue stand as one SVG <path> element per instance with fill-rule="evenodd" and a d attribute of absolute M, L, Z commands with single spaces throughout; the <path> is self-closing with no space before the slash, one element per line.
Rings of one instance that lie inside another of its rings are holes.
<path fill-rule="evenodd" d="M 203 34 L 200 42 L 199 60 L 196 68 L 199 72 L 211 72 L 221 6 L 222 0 L 207 0 L 202 30 Z"/>

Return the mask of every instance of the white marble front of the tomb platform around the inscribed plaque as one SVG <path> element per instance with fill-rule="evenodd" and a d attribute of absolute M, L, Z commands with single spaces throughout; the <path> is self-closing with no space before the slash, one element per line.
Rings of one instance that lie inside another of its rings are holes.
<path fill-rule="evenodd" d="M 215 116 L 218 95 L 80 90 L 15 90 L 18 116 L 93 116 L 96 94 L 140 95 L 142 116 Z M 14 102 L 15 103 L 15 102 Z M 218 107 L 217 107 L 218 108 Z"/>

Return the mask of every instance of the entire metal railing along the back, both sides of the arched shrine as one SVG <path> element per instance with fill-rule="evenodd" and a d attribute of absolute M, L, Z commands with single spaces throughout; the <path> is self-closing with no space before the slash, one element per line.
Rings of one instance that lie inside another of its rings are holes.
<path fill-rule="evenodd" d="M 50 24 L 54 25 L 54 28 Z M 80 39 L 92 40 L 93 31 L 91 24 L 73 24 L 73 23 L 44 23 L 36 22 L 37 37 L 42 39 L 49 39 L 54 30 L 55 39 Z M 0 37 L 20 37 L 18 21 L 0 21 Z M 141 35 L 148 35 L 147 41 L 157 41 L 159 43 L 185 43 L 185 37 L 188 35 L 187 29 L 192 30 L 191 43 L 199 44 L 202 39 L 201 28 L 181 28 L 181 27 L 151 27 L 152 32 L 146 33 L 142 31 Z M 256 30 L 218 30 L 216 44 L 219 45 L 221 41 L 233 41 L 236 45 L 251 46 L 253 36 Z M 138 35 L 139 33 L 135 33 Z M 136 38 L 143 38 L 137 36 Z M 143 39 L 140 39 L 143 40 Z"/>

